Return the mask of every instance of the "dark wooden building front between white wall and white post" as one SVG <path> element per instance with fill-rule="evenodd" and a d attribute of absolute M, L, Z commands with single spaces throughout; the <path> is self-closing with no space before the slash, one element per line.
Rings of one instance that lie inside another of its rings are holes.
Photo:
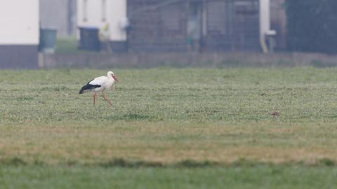
<path fill-rule="evenodd" d="M 258 0 L 128 0 L 131 52 L 253 50 Z"/>

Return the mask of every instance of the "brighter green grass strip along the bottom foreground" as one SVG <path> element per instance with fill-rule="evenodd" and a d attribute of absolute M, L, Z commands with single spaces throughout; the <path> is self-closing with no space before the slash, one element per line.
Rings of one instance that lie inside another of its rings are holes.
<path fill-rule="evenodd" d="M 331 167 L 0 167 L 0 188 L 335 188 Z"/>

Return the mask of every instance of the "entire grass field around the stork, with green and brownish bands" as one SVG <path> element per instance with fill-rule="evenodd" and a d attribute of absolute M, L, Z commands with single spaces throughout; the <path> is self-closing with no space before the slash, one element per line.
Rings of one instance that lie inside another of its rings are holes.
<path fill-rule="evenodd" d="M 336 71 L 0 71 L 0 188 L 333 188 Z"/>

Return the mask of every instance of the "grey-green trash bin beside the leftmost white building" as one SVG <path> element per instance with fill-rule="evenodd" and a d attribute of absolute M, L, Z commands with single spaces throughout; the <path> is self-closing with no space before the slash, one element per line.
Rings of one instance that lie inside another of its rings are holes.
<path fill-rule="evenodd" d="M 56 48 L 56 34 L 55 28 L 41 28 L 40 29 L 40 44 L 39 51 L 44 53 L 54 53 Z"/>

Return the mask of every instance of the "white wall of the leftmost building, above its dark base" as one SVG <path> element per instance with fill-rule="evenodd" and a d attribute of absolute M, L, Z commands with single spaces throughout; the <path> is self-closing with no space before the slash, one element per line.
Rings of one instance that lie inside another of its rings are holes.
<path fill-rule="evenodd" d="M 39 44 L 39 0 L 0 0 L 0 45 Z"/>

